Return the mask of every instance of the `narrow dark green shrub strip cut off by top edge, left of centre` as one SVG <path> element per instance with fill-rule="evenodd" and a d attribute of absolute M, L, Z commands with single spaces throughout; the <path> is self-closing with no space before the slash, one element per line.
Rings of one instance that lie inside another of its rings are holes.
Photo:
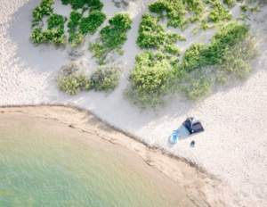
<path fill-rule="evenodd" d="M 74 10 L 90 7 L 90 12 L 101 11 L 103 4 L 100 0 L 61 0 L 62 4 L 71 4 Z"/>

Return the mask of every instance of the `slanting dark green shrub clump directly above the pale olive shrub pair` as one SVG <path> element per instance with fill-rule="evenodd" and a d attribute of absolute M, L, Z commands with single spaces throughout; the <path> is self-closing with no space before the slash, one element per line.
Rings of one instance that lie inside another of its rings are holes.
<path fill-rule="evenodd" d="M 96 43 L 89 44 L 89 50 L 94 52 L 93 57 L 99 59 L 99 64 L 105 63 L 110 52 L 122 54 L 122 46 L 127 40 L 126 32 L 131 29 L 132 20 L 129 13 L 117 13 L 109 19 L 109 25 L 101 29 Z"/>

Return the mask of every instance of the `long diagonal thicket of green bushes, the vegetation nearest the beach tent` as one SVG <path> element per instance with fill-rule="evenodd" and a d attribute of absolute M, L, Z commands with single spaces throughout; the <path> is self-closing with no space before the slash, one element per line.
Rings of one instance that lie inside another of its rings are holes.
<path fill-rule="evenodd" d="M 141 26 L 145 28 L 142 23 Z M 248 36 L 249 26 L 229 23 L 216 33 L 210 44 L 192 44 L 179 65 L 177 58 L 169 55 L 180 54 L 174 44 L 166 45 L 164 51 L 138 54 L 125 97 L 142 108 L 154 108 L 166 104 L 170 93 L 181 91 L 187 98 L 198 100 L 211 92 L 214 83 L 244 79 L 256 54 L 255 44 Z M 207 66 L 216 70 L 202 70 Z"/>

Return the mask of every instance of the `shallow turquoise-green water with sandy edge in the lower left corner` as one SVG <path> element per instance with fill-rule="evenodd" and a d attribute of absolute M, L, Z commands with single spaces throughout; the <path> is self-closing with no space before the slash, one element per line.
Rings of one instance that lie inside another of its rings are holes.
<path fill-rule="evenodd" d="M 0 118 L 0 206 L 194 206 L 124 148 L 54 120 Z"/>

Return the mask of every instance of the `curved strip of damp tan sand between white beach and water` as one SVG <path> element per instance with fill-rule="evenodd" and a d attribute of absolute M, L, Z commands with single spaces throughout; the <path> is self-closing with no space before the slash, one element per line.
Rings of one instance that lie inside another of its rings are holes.
<path fill-rule="evenodd" d="M 196 206 L 234 206 L 231 189 L 201 166 L 164 149 L 148 145 L 141 138 L 110 125 L 93 112 L 74 104 L 6 105 L 0 106 L 1 113 L 57 120 L 70 128 L 94 134 L 139 155 L 150 167 L 182 186 Z"/>

